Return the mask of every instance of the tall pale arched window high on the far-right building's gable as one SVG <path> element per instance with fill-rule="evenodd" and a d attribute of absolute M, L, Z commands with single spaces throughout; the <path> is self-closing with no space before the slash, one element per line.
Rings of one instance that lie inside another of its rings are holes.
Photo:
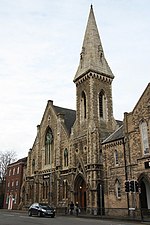
<path fill-rule="evenodd" d="M 147 124 L 145 121 L 141 122 L 140 131 L 141 131 L 141 144 L 143 148 L 143 153 L 144 155 L 146 155 L 150 153 L 150 149 L 149 149 L 149 142 L 148 142 Z"/>

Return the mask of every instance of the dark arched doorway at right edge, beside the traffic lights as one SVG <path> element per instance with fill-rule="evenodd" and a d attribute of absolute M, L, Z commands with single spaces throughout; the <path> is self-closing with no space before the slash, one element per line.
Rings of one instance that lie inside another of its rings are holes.
<path fill-rule="evenodd" d="M 140 186 L 140 207 L 150 209 L 150 182 L 142 177 L 139 181 Z"/>

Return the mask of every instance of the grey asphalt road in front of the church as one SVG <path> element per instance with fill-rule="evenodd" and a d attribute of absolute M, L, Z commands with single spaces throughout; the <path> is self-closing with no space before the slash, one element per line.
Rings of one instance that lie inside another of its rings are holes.
<path fill-rule="evenodd" d="M 0 225 L 141 225 L 141 223 L 110 221 L 71 216 L 55 218 L 29 217 L 27 213 L 0 210 Z"/>

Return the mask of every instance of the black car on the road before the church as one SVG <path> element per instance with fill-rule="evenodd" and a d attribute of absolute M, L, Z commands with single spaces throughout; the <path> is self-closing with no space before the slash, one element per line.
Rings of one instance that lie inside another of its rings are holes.
<path fill-rule="evenodd" d="M 55 217 L 55 209 L 44 203 L 33 203 L 28 210 L 28 215 Z"/>

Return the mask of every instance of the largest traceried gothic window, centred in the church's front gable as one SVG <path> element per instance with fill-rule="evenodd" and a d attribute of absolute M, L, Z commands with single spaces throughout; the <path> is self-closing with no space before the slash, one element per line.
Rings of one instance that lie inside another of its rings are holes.
<path fill-rule="evenodd" d="M 53 134 L 50 127 L 48 127 L 45 135 L 45 165 L 51 164 L 52 162 L 52 143 Z"/>

